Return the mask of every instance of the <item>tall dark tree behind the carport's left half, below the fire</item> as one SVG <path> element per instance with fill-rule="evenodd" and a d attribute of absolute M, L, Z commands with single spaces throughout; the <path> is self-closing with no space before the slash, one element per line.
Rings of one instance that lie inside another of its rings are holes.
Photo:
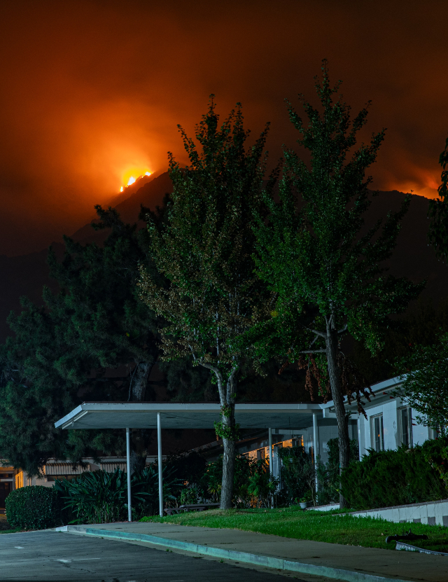
<path fill-rule="evenodd" d="M 53 317 L 67 321 L 65 337 L 71 352 L 92 361 L 97 393 L 110 390 L 113 383 L 114 394 L 106 400 L 153 399 L 148 394 L 149 375 L 159 356 L 160 322 L 139 300 L 136 286 L 140 264 L 155 276 L 148 235 L 146 229 L 123 223 L 115 209 L 95 209 L 99 221 L 92 226 L 105 230 L 106 240 L 83 245 L 65 237 L 66 252 L 60 263 L 50 252 L 50 274 L 61 291 L 56 295 L 45 291 L 45 304 Z M 123 367 L 127 369 L 124 375 L 111 371 Z M 132 431 L 133 471 L 144 466 L 151 436 L 150 430 Z"/>

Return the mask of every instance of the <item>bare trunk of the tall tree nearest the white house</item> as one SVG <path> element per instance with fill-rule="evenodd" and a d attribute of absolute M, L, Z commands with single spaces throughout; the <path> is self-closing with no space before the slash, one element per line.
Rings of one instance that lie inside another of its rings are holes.
<path fill-rule="evenodd" d="M 327 352 L 328 375 L 330 376 L 330 387 L 335 413 L 337 419 L 337 431 L 339 435 L 339 475 L 342 469 L 346 469 L 350 462 L 350 439 L 349 423 L 345 412 L 344 396 L 342 394 L 341 377 L 337 367 L 338 338 L 337 330 L 331 324 L 327 325 L 327 337 L 325 338 Z M 346 499 L 339 492 L 339 504 L 343 509 L 347 506 Z"/>

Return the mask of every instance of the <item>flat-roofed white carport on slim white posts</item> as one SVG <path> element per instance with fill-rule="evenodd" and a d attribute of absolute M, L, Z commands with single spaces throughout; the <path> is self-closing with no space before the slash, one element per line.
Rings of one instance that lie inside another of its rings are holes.
<path fill-rule="evenodd" d="M 304 429 L 313 426 L 314 447 L 318 450 L 317 420 L 321 406 L 308 403 L 241 403 L 235 405 L 235 422 L 241 429 L 268 429 L 269 468 L 272 472 L 272 429 Z M 85 402 L 55 422 L 56 428 L 125 429 L 127 457 L 128 520 L 132 521 L 130 429 L 155 429 L 158 438 L 159 511 L 163 515 L 162 423 L 164 429 L 213 429 L 221 419 L 218 403 L 134 403 Z"/>

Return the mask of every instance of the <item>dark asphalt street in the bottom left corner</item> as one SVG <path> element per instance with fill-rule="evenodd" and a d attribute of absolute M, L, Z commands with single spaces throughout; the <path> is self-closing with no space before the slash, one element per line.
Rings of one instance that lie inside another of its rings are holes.
<path fill-rule="evenodd" d="M 108 539 L 59 532 L 0 535 L 0 580 L 281 582 L 283 576 Z"/>

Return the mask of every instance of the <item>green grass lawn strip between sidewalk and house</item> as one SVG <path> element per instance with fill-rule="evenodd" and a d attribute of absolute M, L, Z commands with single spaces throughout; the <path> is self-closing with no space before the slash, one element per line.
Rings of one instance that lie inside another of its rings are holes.
<path fill-rule="evenodd" d="M 142 518 L 144 522 L 176 523 L 198 527 L 225 527 L 248 532 L 274 534 L 295 539 L 312 539 L 347 546 L 395 549 L 395 542 L 386 544 L 386 536 L 412 529 L 426 534 L 428 541 L 412 545 L 439 552 L 448 552 L 448 529 L 440 525 L 392 523 L 374 518 L 353 518 L 336 512 L 302 511 L 297 507 L 283 509 L 230 509 L 181 513 L 166 518 Z"/>

